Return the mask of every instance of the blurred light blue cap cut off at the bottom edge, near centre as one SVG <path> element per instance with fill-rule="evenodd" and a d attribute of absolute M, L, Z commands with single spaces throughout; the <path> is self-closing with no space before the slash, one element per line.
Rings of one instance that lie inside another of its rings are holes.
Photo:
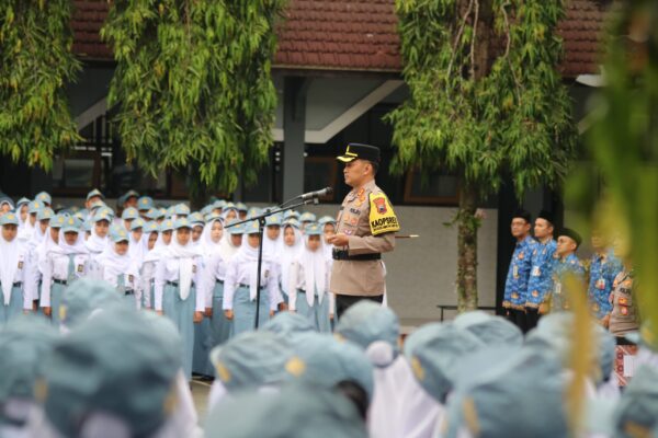
<path fill-rule="evenodd" d="M 206 438 L 367 438 L 365 423 L 344 396 L 293 385 L 280 393 L 243 393 L 208 415 Z"/>

